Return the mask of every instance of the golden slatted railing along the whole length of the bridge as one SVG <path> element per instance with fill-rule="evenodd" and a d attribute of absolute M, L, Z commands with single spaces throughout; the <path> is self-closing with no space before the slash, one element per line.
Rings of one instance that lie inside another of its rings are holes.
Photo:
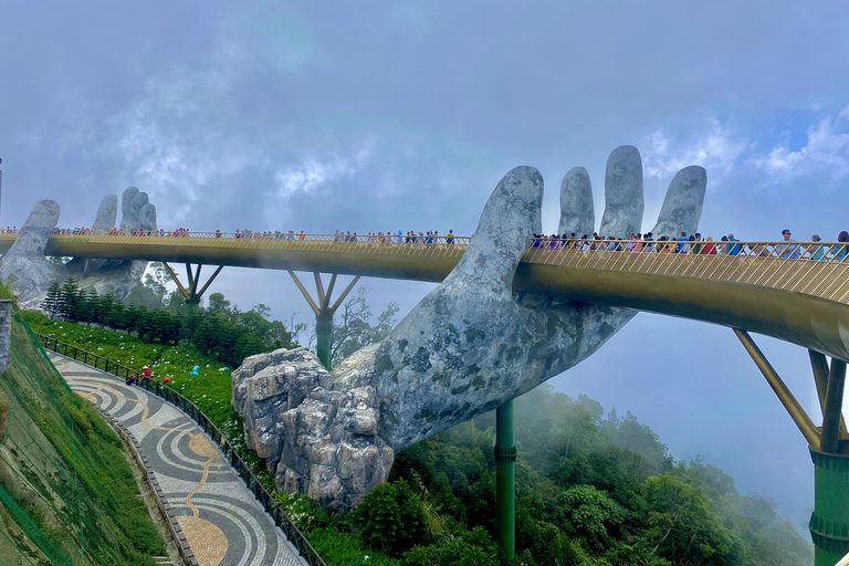
<path fill-rule="evenodd" d="M 0 242 L 17 233 L 0 232 Z M 56 243 L 233 248 L 379 254 L 459 260 L 471 237 L 265 234 L 189 232 L 57 234 Z M 835 242 L 532 241 L 522 258 L 532 264 L 694 277 L 755 285 L 849 304 L 849 244 Z"/>

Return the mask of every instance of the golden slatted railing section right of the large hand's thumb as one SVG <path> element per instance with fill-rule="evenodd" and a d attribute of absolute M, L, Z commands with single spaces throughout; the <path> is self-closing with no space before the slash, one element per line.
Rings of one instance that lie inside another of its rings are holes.
<path fill-rule="evenodd" d="M 742 283 L 849 303 L 846 243 L 541 240 L 533 247 L 534 243 L 523 261 Z"/>

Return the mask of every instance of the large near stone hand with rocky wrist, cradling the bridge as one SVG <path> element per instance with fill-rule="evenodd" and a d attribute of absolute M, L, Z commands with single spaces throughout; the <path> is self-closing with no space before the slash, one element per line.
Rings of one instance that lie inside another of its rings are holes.
<path fill-rule="evenodd" d="M 639 232 L 642 165 L 635 147 L 610 155 L 600 233 Z M 706 175 L 672 180 L 654 237 L 695 231 Z M 249 442 L 277 483 L 347 507 L 384 481 L 394 452 L 499 407 L 587 358 L 636 311 L 513 293 L 532 234 L 542 232 L 543 179 L 517 167 L 499 182 L 457 268 L 380 344 L 332 374 L 303 348 L 254 356 L 233 373 Z M 589 177 L 570 170 L 560 232 L 590 233 Z"/>

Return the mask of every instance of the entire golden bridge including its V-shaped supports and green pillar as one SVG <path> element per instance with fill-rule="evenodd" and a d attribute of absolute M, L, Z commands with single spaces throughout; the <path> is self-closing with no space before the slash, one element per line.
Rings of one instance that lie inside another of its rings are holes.
<path fill-rule="evenodd" d="M 15 238 L 14 233 L 0 233 L 0 253 Z M 411 241 L 370 234 L 86 233 L 51 237 L 45 254 L 163 262 L 189 304 L 198 304 L 224 266 L 289 271 L 316 314 L 317 350 L 328 365 L 333 313 L 359 277 L 440 282 L 469 242 L 468 237 L 417 237 Z M 810 531 L 817 565 L 830 565 L 849 551 L 849 432 L 841 415 L 849 361 L 848 252 L 849 244 L 826 242 L 563 240 L 542 241 L 538 247 L 531 242 L 513 290 L 733 328 L 809 443 L 816 472 Z M 186 264 L 188 284 L 178 280 L 170 263 Z M 216 271 L 201 285 L 205 265 L 213 265 Z M 313 272 L 316 300 L 295 271 Z M 327 289 L 321 273 L 332 274 Z M 355 279 L 332 303 L 340 274 Z M 821 427 L 805 412 L 748 332 L 809 350 Z M 826 356 L 831 357 L 830 367 Z"/>

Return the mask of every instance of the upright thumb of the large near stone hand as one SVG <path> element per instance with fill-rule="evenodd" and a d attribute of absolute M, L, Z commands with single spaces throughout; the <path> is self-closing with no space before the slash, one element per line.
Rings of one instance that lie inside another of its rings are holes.
<path fill-rule="evenodd" d="M 539 171 L 522 166 L 507 172 L 492 191 L 469 249 L 446 283 L 510 297 L 531 237 L 542 231 L 542 205 Z"/>

